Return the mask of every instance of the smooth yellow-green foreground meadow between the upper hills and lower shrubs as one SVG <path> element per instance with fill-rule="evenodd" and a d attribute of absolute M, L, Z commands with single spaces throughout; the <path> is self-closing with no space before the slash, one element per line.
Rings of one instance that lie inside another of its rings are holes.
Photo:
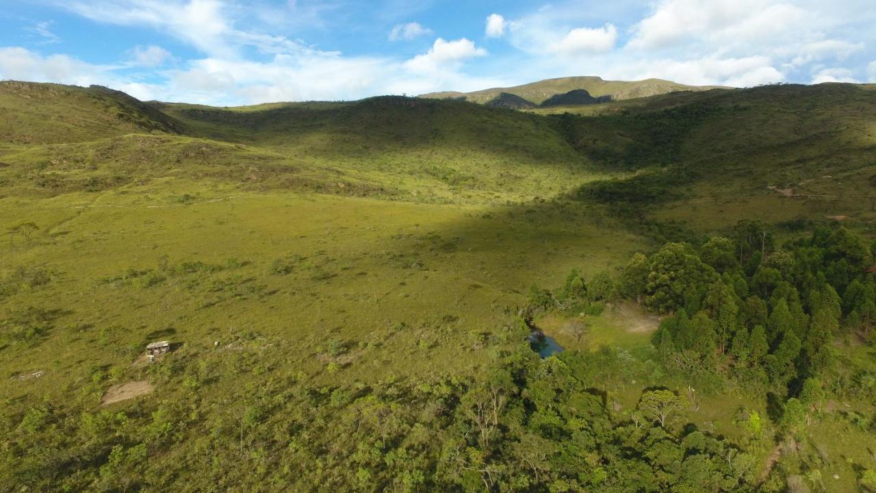
<path fill-rule="evenodd" d="M 636 245 L 623 232 L 609 239 L 594 226 L 581 227 L 580 218 L 539 225 L 483 207 L 231 196 L 231 189 L 195 191 L 199 186 L 175 181 L 160 191 L 4 199 L 0 220 L 25 217 L 41 227 L 30 243 L 3 245 L 7 266 L 58 273 L 46 286 L 19 292 L 15 305 L 74 308 L 53 320 L 45 340 L 16 348 L 17 357 L 0 371 L 53 368 L 76 375 L 95 364 L 124 368 L 129 353 L 100 344 L 85 349 L 107 326 L 123 328 L 115 344 L 125 348 L 167 329 L 194 347 L 254 331 L 294 341 L 288 357 L 313 374 L 324 369 L 315 355 L 327 334 L 379 342 L 361 356 L 381 361 L 379 367 L 359 373 L 352 366 L 361 377 L 459 369 L 483 358 L 468 349 L 479 345 L 482 332 L 504 323 L 501 307 L 520 303 L 517 293 L 532 282 L 531 272 L 553 278 L 583 261 L 613 265 Z M 180 203 L 186 193 L 196 196 L 193 203 Z M 92 200 L 82 200 L 87 197 Z M 597 238 L 605 247 L 586 260 L 555 247 Z M 504 245 L 501 254 L 497 243 Z M 228 259 L 240 266 L 180 275 L 159 268 L 162 262 L 222 265 Z M 276 261 L 287 262 L 289 272 L 270 274 Z M 64 329 L 74 325 L 91 328 Z M 418 345 L 428 351 L 412 350 Z M 461 347 L 468 348 L 463 360 Z M 8 390 L 16 396 L 20 389 L 11 384 Z"/>

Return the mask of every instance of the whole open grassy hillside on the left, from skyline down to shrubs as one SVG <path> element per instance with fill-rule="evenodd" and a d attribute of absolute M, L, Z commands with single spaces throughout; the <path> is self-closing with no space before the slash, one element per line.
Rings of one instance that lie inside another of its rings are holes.
<path fill-rule="evenodd" d="M 27 132 L 39 133 L 46 108 L 65 111 L 46 132 L 55 139 L 0 150 L 9 164 L 0 225 L 40 227 L 30 242 L 0 246 L 2 275 L 43 269 L 52 281 L 16 289 L 4 316 L 33 306 L 53 318 L 36 344 L 4 347 L 15 357 L 0 370 L 66 375 L 46 393 L 76 405 L 95 405 L 77 393 L 89 368 L 116 368 L 113 382 L 134 378 L 138 350 L 126 348 L 156 337 L 184 341 L 180 354 L 193 355 L 213 339 L 258 332 L 294 346 L 265 364 L 293 363 L 315 382 L 465 373 L 488 347 L 515 342 L 490 334 L 500 335 L 503 307 L 532 282 L 612 268 L 643 241 L 606 234 L 587 206 L 517 205 L 612 175 L 551 122 L 517 111 L 401 98 L 148 105 L 180 135 L 107 119 L 100 111 L 111 101 L 82 104 L 93 99 L 88 89 L 26 86 L 16 90 L 49 91 L 45 104 L 23 104 L 11 90 L 3 98 L 32 122 Z M 576 248 L 584 244 L 598 247 Z M 158 267 L 231 258 L 240 265 L 185 275 Z M 272 275 L 275 262 L 291 272 Z M 340 376 L 326 370 L 329 338 L 357 348 Z M 23 402 L 32 396 L 29 382 L 0 384 Z"/>

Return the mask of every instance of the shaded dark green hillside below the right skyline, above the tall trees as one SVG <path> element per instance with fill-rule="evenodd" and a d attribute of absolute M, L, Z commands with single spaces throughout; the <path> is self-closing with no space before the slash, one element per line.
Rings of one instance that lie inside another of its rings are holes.
<path fill-rule="evenodd" d="M 549 112 L 587 115 L 576 121 L 576 147 L 596 161 L 639 168 L 633 180 L 655 182 L 684 170 L 685 178 L 672 175 L 665 185 L 662 204 L 649 205 L 651 218 L 716 231 L 741 218 L 776 223 L 848 216 L 856 227 L 872 228 L 874 86 L 788 85 L 632 103 Z M 639 153 L 641 142 L 653 151 Z M 793 189 L 795 196 L 770 186 Z M 678 192 L 682 197 L 673 199 Z"/>

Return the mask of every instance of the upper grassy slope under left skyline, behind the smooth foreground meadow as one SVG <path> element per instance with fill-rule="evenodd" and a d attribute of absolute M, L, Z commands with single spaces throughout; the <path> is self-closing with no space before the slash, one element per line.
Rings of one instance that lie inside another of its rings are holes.
<path fill-rule="evenodd" d="M 20 164 L 0 169 L 10 190 L 25 186 L 52 194 L 106 189 L 135 177 L 185 175 L 248 189 L 504 203 L 554 196 L 605 176 L 549 122 L 515 111 L 392 97 L 233 110 L 150 104 L 145 106 L 164 111 L 187 134 L 146 137 L 145 128 L 96 119 L 95 112 L 105 116 L 81 104 L 83 90 L 88 89 L 57 94 L 58 106 L 69 108 L 58 124 L 72 128 L 66 138 L 56 129 L 55 139 L 42 139 L 41 145 L 11 139 L 0 147 L 0 161 Z M 20 103 L 14 92 L 4 100 Z M 46 119 L 41 107 L 19 104 L 17 115 L 32 123 L 9 128 L 0 123 L 0 132 L 41 132 L 34 130 Z M 131 132 L 137 135 L 126 135 Z M 83 135 L 102 139 L 81 142 Z M 73 144 L 55 144 L 59 139 Z"/>

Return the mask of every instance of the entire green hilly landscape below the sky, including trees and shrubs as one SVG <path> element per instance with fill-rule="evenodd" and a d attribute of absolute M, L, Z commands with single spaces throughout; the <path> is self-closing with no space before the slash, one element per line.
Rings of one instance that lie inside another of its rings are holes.
<path fill-rule="evenodd" d="M 861 488 L 876 86 L 573 79 L 0 82 L 0 493 Z"/>

